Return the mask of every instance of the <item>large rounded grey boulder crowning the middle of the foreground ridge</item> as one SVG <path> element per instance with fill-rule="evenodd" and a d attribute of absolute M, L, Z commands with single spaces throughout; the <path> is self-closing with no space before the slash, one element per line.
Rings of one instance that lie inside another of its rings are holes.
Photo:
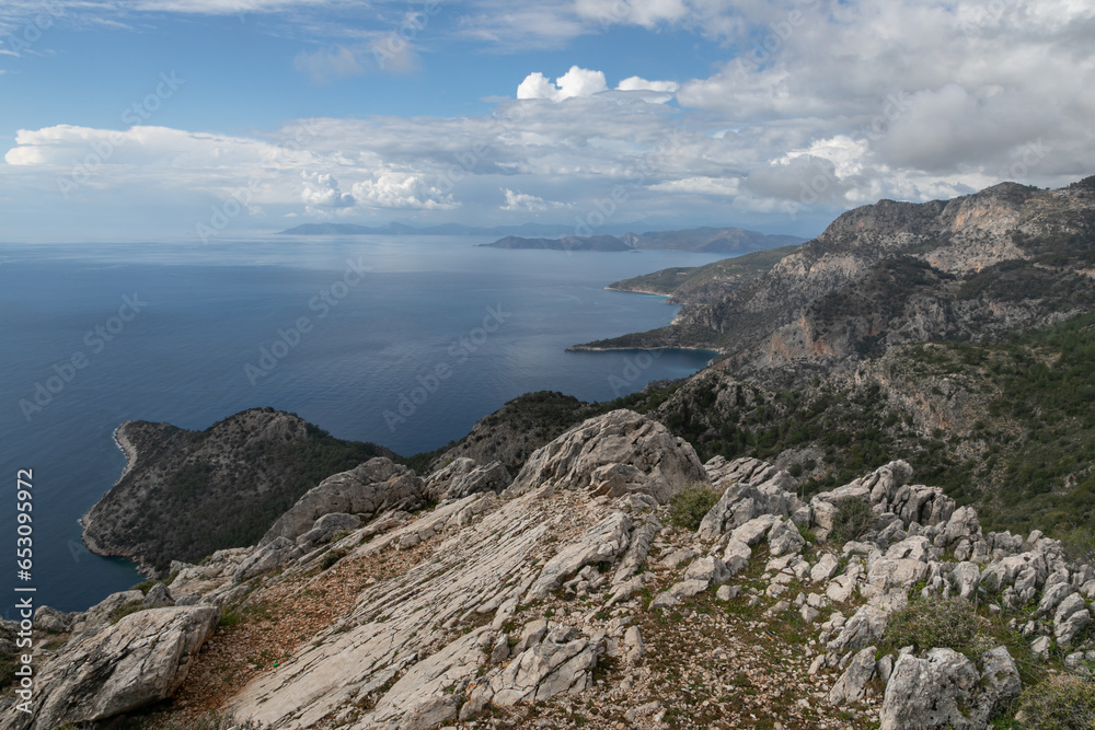
<path fill-rule="evenodd" d="M 570 489 L 597 489 L 602 485 L 596 482 L 595 473 L 607 476 L 598 470 L 609 464 L 630 465 L 641 472 L 645 482 L 627 484 L 637 484 L 636 489 L 660 503 L 690 485 L 707 484 L 703 464 L 687 441 L 646 416 L 621 409 L 590 418 L 538 449 L 506 494 L 521 495 L 548 482 Z M 622 473 L 616 470 L 612 474 Z M 633 472 L 629 474 L 637 478 Z M 624 491 L 614 494 L 613 488 Z M 626 484 L 610 479 L 606 494 L 616 497 L 627 489 Z"/>

